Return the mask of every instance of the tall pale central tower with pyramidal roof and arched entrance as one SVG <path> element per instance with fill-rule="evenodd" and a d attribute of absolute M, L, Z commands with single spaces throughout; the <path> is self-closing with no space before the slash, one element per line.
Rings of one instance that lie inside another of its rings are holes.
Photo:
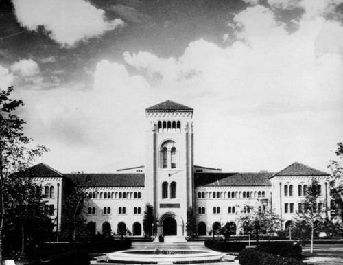
<path fill-rule="evenodd" d="M 171 100 L 145 109 L 145 189 L 157 232 L 185 235 L 193 205 L 193 108 Z"/>

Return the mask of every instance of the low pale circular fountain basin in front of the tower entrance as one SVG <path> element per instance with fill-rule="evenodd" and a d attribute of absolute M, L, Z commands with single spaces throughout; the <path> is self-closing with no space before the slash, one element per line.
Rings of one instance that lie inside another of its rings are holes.
<path fill-rule="evenodd" d="M 208 250 L 127 250 L 97 257 L 91 264 L 209 264 L 222 262 L 224 253 Z"/>

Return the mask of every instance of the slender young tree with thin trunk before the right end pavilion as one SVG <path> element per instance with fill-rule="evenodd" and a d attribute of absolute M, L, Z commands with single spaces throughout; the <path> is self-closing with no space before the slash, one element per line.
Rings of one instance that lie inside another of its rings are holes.
<path fill-rule="evenodd" d="M 314 231 L 317 224 L 324 222 L 324 207 L 321 207 L 320 201 L 320 185 L 316 178 L 312 178 L 305 198 L 301 202 L 301 209 L 297 211 L 296 227 L 303 227 L 311 233 L 311 253 L 314 251 Z"/>

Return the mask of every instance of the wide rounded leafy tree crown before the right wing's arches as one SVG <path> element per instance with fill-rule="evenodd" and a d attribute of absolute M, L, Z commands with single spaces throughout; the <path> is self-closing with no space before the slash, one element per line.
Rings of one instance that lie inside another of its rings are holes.
<path fill-rule="evenodd" d="M 245 235 L 256 235 L 255 221 L 259 220 L 259 233 L 268 237 L 273 237 L 276 231 L 281 229 L 281 218 L 275 214 L 274 209 L 266 207 L 263 209 L 260 203 L 254 206 L 246 206 L 249 209 L 246 213 L 241 213 L 237 218 L 237 226 L 240 227 Z"/>

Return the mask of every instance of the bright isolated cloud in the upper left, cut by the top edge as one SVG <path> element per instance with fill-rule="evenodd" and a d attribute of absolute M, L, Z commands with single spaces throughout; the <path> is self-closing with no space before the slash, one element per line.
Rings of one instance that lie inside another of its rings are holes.
<path fill-rule="evenodd" d="M 12 0 L 16 17 L 29 30 L 43 26 L 54 41 L 72 47 L 123 25 L 121 19 L 107 21 L 104 10 L 83 0 Z M 27 11 L 29 10 L 29 12 Z"/>

